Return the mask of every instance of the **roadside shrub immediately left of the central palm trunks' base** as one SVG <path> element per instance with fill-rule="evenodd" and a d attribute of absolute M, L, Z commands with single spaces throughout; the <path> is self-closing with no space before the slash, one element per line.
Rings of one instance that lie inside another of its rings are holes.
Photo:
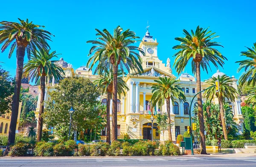
<path fill-rule="evenodd" d="M 90 145 L 91 156 L 105 156 L 110 148 L 110 145 L 106 142 L 99 142 Z"/>

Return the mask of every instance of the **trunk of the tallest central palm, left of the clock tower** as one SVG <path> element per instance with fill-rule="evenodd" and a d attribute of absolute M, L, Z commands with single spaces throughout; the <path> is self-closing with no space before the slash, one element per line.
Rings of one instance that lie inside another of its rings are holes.
<path fill-rule="evenodd" d="M 118 65 L 113 64 L 112 141 L 117 140 L 117 70 Z"/>

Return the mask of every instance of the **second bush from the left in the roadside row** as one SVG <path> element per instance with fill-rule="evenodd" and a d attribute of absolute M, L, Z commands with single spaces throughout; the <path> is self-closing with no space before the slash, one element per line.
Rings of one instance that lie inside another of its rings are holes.
<path fill-rule="evenodd" d="M 35 156 L 52 156 L 53 155 L 54 143 L 45 141 L 38 142 L 35 145 L 34 154 Z"/>

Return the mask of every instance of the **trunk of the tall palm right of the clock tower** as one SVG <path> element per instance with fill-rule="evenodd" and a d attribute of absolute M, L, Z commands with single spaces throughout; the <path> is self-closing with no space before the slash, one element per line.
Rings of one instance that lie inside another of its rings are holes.
<path fill-rule="evenodd" d="M 201 92 L 201 77 L 200 77 L 200 63 L 196 63 L 196 87 L 197 91 Z M 201 152 L 200 154 L 206 153 L 206 145 L 205 145 L 205 136 L 204 136 L 204 113 L 203 113 L 203 104 L 202 104 L 202 95 L 198 94 L 198 118 L 199 118 L 199 132 L 200 132 L 200 144 L 201 144 Z"/>

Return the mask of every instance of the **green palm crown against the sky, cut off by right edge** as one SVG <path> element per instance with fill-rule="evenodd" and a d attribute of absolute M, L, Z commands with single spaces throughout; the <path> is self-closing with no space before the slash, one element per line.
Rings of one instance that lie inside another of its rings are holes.
<path fill-rule="evenodd" d="M 252 49 L 246 47 L 246 52 L 241 52 L 241 56 L 245 56 L 247 59 L 236 61 L 239 63 L 238 72 L 244 69 L 244 73 L 239 78 L 239 85 L 243 85 L 247 81 L 247 86 L 256 85 L 256 43 L 253 43 Z"/>

